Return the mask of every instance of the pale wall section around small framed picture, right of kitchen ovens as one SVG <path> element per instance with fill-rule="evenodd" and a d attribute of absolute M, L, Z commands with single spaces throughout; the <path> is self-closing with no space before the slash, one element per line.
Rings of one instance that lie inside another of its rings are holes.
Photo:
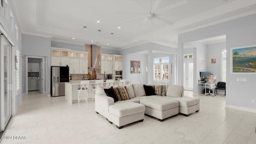
<path fill-rule="evenodd" d="M 130 61 L 136 60 L 140 61 L 140 74 L 131 74 L 130 72 Z M 148 66 L 148 55 L 147 54 L 127 54 L 125 57 L 124 67 L 125 70 L 125 78 L 128 81 L 133 83 L 142 83 L 146 84 L 148 82 L 148 72 L 146 72 L 146 66 Z"/>

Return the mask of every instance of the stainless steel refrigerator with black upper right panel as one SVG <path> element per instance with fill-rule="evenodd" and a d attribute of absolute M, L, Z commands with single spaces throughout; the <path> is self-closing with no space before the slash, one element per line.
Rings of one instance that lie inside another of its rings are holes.
<path fill-rule="evenodd" d="M 65 96 L 65 82 L 69 82 L 69 67 L 51 66 L 51 96 Z"/>

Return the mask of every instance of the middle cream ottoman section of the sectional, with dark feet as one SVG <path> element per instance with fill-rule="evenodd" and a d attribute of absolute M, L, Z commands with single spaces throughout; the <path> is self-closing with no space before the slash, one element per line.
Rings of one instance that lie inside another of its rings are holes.
<path fill-rule="evenodd" d="M 146 98 L 140 100 L 140 104 L 145 106 L 145 114 L 158 118 L 159 121 L 164 121 L 165 118 L 178 115 L 179 102 L 165 98 Z"/>

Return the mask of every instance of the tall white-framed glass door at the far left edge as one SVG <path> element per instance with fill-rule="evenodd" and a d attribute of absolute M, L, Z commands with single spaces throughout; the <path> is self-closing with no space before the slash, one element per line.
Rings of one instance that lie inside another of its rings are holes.
<path fill-rule="evenodd" d="M 11 84 L 11 45 L 1 35 L 0 38 L 0 108 L 1 108 L 1 131 L 4 131 L 6 128 L 12 114 L 11 114 L 11 92 L 12 92 L 12 84 Z"/>

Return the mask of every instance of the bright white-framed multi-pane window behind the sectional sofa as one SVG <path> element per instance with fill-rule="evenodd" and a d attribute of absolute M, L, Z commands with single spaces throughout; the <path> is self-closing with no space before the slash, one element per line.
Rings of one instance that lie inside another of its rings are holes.
<path fill-rule="evenodd" d="M 168 82 L 169 80 L 169 57 L 154 58 L 154 80 Z"/>

